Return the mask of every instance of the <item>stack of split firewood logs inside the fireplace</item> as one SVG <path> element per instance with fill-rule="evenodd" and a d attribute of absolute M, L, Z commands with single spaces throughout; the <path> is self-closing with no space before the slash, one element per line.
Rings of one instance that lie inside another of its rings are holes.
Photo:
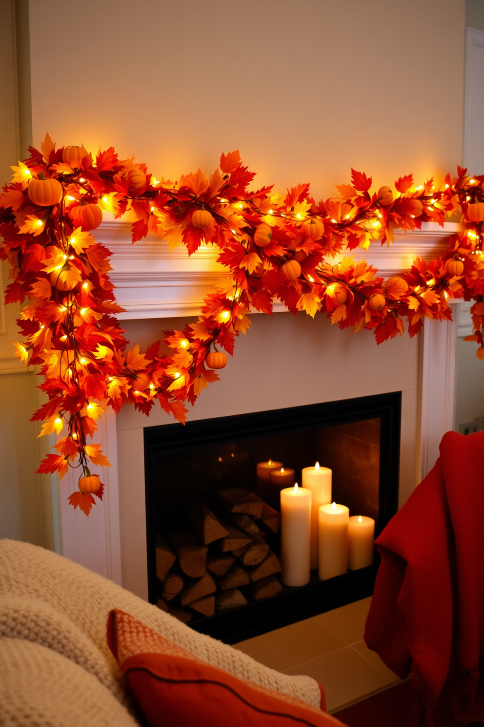
<path fill-rule="evenodd" d="M 267 542 L 279 531 L 279 513 L 244 488 L 219 491 L 213 510 L 192 502 L 190 529 L 157 535 L 157 605 L 185 623 L 282 590 L 281 563 Z"/>

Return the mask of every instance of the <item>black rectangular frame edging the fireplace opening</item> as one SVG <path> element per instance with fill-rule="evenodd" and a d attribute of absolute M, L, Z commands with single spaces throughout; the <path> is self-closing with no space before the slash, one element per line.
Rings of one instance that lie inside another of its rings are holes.
<path fill-rule="evenodd" d="M 234 438 L 257 438 L 267 433 L 335 426 L 362 419 L 380 418 L 379 518 L 375 536 L 380 534 L 398 510 L 398 468 L 400 454 L 401 391 L 363 396 L 343 401 L 295 406 L 289 409 L 257 411 L 233 417 L 217 417 L 144 428 L 144 473 L 147 518 L 147 566 L 149 603 L 157 602 L 155 562 L 155 512 L 152 482 L 154 457 L 186 446 L 187 435 L 197 443 L 233 441 Z M 189 625 L 225 643 L 237 643 L 261 633 L 330 611 L 372 595 L 379 558 L 375 551 L 373 566 L 320 581 L 316 575 L 308 585 L 284 586 L 275 598 L 255 601 L 247 606 L 222 611 L 197 619 Z"/>

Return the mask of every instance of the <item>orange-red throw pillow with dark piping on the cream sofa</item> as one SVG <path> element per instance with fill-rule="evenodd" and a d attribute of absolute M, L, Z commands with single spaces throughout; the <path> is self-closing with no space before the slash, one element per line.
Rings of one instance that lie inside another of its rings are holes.
<path fill-rule="evenodd" d="M 118 608 L 107 643 L 151 727 L 336 727 L 300 699 L 234 677 Z"/>

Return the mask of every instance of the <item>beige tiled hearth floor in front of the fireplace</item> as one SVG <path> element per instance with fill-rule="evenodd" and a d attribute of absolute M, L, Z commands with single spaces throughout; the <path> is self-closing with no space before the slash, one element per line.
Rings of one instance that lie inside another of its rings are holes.
<path fill-rule="evenodd" d="M 400 679 L 366 648 L 364 624 L 371 598 L 335 608 L 235 645 L 267 667 L 305 674 L 324 685 L 329 712 Z"/>

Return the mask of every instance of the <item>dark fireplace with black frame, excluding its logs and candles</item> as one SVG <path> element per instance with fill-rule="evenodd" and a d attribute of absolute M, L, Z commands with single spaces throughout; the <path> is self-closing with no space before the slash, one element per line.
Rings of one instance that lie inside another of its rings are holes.
<path fill-rule="evenodd" d="M 331 467 L 332 499 L 348 505 L 350 514 L 374 518 L 377 536 L 398 508 L 400 419 L 401 392 L 395 392 L 205 419 L 185 426 L 146 427 L 150 603 L 166 608 L 161 598 L 163 584 L 157 578 L 157 542 L 173 542 L 174 533 L 190 529 L 190 503 L 202 504 L 219 515 L 219 491 L 244 488 L 257 492 L 256 465 L 268 457 L 294 468 L 299 482 L 302 468 L 316 460 Z M 273 500 L 271 505 L 275 504 Z M 266 528 L 266 540 L 270 552 L 279 555 L 279 535 Z M 208 546 L 209 557 L 220 552 L 216 546 L 217 542 Z M 178 562 L 173 564 L 173 574 L 177 566 L 184 577 Z M 180 596 L 168 601 L 168 606 L 181 619 L 189 619 L 195 630 L 237 643 L 371 595 L 376 571 L 375 553 L 373 566 L 326 581 L 311 571 L 308 585 L 282 585 L 272 598 L 251 598 L 250 586 L 242 586 L 239 590 L 247 603 L 217 608 L 210 616 L 189 605 L 181 606 Z"/>

